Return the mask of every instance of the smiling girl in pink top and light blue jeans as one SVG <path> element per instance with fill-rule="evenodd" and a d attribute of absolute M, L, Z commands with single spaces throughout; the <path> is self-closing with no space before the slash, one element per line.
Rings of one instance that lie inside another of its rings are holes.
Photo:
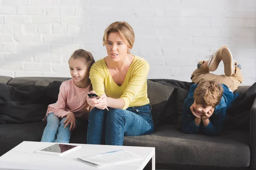
<path fill-rule="evenodd" d="M 69 143 L 71 130 L 88 118 L 91 107 L 86 98 L 91 90 L 89 71 L 94 62 L 92 54 L 82 49 L 71 55 L 68 63 L 72 79 L 62 82 L 58 101 L 48 106 L 41 142 Z"/>

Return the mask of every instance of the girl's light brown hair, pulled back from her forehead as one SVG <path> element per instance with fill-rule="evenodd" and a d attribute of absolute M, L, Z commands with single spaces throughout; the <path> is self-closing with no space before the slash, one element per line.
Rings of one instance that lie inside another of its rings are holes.
<path fill-rule="evenodd" d="M 70 56 L 70 59 L 77 59 L 77 58 L 85 59 L 85 64 L 87 65 L 89 70 L 93 65 L 93 63 L 95 62 L 93 55 L 89 51 L 85 51 L 83 49 L 78 49 L 74 51 L 73 54 Z M 70 59 L 68 60 L 68 62 L 70 62 Z"/>

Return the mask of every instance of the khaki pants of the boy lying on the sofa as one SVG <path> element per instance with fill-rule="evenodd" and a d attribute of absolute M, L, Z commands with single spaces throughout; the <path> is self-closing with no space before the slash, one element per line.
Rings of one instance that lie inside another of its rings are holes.
<path fill-rule="evenodd" d="M 204 64 L 206 61 L 200 61 L 199 63 Z M 215 80 L 218 83 L 222 83 L 224 85 L 227 85 L 228 88 L 230 88 L 232 91 L 235 91 L 238 86 L 243 82 L 243 75 L 240 71 L 240 68 L 235 67 L 235 74 L 233 74 L 230 77 L 227 77 L 226 75 L 215 75 L 212 73 L 209 73 L 210 71 L 205 70 L 203 65 L 200 65 L 199 68 L 195 69 L 193 74 L 191 75 L 192 82 L 195 84 L 200 83 L 204 80 Z"/>

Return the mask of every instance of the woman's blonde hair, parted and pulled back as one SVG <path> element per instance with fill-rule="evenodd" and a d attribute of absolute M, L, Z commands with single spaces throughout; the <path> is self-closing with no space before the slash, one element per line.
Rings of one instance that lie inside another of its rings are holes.
<path fill-rule="evenodd" d="M 116 21 L 108 26 L 108 28 L 105 29 L 105 33 L 103 36 L 103 46 L 107 44 L 108 35 L 111 32 L 118 32 L 121 37 L 124 39 L 125 44 L 132 48 L 135 41 L 135 34 L 131 26 L 126 23 L 125 21 Z M 129 51 L 127 52 L 130 53 Z"/>

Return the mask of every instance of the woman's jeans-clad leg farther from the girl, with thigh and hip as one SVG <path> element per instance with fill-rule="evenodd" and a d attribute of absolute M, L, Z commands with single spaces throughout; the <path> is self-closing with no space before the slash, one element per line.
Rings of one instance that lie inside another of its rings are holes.
<path fill-rule="evenodd" d="M 123 145 L 124 136 L 146 135 L 153 130 L 149 104 L 127 110 L 110 109 L 106 118 L 105 144 Z"/>

